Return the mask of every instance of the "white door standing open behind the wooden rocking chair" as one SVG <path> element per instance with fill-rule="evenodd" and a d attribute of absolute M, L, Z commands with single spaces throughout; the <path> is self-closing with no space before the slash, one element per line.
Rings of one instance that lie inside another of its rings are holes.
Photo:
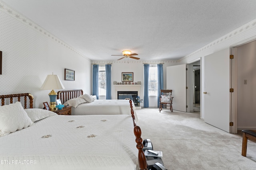
<path fill-rule="evenodd" d="M 186 112 L 186 64 L 166 67 L 166 89 L 172 90 L 172 108 Z"/>

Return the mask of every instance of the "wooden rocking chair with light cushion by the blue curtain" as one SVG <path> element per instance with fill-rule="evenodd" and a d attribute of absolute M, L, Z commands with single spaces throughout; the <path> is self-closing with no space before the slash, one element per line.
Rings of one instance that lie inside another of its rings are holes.
<path fill-rule="evenodd" d="M 163 109 L 163 105 L 170 105 L 170 110 L 172 110 L 172 90 L 160 90 L 161 96 L 159 96 L 159 112 Z"/>

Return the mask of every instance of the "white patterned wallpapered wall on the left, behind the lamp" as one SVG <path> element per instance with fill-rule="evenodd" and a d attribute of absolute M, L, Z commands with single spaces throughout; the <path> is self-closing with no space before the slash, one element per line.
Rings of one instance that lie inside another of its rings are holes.
<path fill-rule="evenodd" d="M 2 75 L 0 95 L 31 93 L 34 108 L 50 102 L 50 90 L 39 90 L 48 74 L 57 74 L 66 90 L 91 93 L 91 62 L 33 23 L 0 12 Z M 64 80 L 64 68 L 75 70 L 75 81 Z M 56 92 L 58 89 L 54 89 Z"/>

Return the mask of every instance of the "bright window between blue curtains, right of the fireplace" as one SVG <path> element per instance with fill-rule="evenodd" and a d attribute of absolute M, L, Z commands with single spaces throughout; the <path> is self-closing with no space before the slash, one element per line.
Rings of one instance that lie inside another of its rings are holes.
<path fill-rule="evenodd" d="M 158 73 L 157 67 L 149 67 L 149 78 L 148 78 L 148 94 L 158 94 Z"/>

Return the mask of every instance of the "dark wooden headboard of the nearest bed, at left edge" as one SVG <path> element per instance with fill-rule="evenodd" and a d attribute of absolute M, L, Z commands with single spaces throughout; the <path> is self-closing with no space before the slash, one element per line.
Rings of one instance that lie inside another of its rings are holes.
<path fill-rule="evenodd" d="M 20 102 L 20 97 L 22 97 L 22 96 L 24 96 L 24 109 L 27 108 L 27 97 L 29 98 L 29 108 L 33 108 L 33 99 L 34 99 L 34 97 L 30 93 L 2 95 L 2 96 L 0 96 L 0 99 L 2 101 L 1 106 L 4 106 L 6 98 L 10 98 L 9 101 L 10 101 L 10 104 L 12 104 L 14 98 L 17 98 L 14 101 Z"/>

